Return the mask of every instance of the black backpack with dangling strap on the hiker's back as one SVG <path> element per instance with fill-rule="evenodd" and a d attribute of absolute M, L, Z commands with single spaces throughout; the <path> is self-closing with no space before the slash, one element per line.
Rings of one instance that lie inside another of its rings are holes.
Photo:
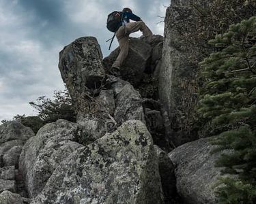
<path fill-rule="evenodd" d="M 106 28 L 111 31 L 114 32 L 113 37 L 111 37 L 111 39 L 108 39 L 106 42 L 111 40 L 111 43 L 109 45 L 109 50 L 111 48 L 111 44 L 113 42 L 113 39 L 115 38 L 115 32 L 118 29 L 118 26 L 120 24 L 120 22 L 122 21 L 123 18 L 123 12 L 112 12 L 111 14 L 108 15 L 108 18 L 106 20 Z"/>

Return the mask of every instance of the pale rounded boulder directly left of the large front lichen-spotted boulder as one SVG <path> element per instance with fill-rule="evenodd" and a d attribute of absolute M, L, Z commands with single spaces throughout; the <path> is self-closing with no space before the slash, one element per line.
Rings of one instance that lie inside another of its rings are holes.
<path fill-rule="evenodd" d="M 29 197 L 35 197 L 44 188 L 49 177 L 62 160 L 82 145 L 78 124 L 57 120 L 46 124 L 35 137 L 23 146 L 19 170 L 23 174 Z"/>

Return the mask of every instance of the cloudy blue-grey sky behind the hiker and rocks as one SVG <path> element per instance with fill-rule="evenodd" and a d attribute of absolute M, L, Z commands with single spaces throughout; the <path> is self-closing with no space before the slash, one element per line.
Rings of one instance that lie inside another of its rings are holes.
<path fill-rule="evenodd" d="M 94 36 L 108 56 L 110 12 L 130 7 L 154 34 L 163 35 L 164 23 L 158 23 L 163 19 L 158 16 L 165 16 L 164 5 L 169 4 L 170 0 L 0 0 L 0 121 L 16 114 L 36 115 L 29 101 L 63 90 L 59 51 L 74 39 Z M 115 47 L 116 39 L 111 50 Z"/>

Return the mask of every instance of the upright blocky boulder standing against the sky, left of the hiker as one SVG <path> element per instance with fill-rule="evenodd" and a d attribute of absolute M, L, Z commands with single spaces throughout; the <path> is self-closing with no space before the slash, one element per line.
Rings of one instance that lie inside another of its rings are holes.
<path fill-rule="evenodd" d="M 88 89 L 99 88 L 105 73 L 102 52 L 95 37 L 81 37 L 59 53 L 59 71 L 76 110 L 87 107 Z"/>

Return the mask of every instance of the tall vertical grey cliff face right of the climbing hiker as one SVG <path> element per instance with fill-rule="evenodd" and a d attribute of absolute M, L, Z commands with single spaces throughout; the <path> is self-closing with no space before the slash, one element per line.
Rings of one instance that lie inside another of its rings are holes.
<path fill-rule="evenodd" d="M 191 24 L 197 24 L 191 5 L 188 0 L 173 0 L 167 8 L 165 41 L 158 67 L 159 97 L 171 121 L 171 141 L 175 146 L 197 139 L 193 124 L 198 59 L 195 60 L 197 54 L 190 48 L 196 47 L 199 42 L 192 44 L 186 38 L 196 30 Z"/>

